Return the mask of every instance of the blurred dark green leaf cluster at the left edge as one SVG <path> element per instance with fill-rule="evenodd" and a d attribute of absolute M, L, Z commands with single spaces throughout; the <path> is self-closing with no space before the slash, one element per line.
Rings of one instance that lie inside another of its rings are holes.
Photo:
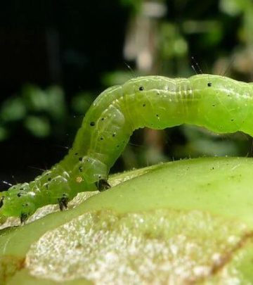
<path fill-rule="evenodd" d="M 52 86 L 42 90 L 27 84 L 18 95 L 1 105 L 0 140 L 7 139 L 15 127 L 23 126 L 35 137 L 47 137 L 53 125 L 63 122 L 67 113 L 63 90 Z"/>

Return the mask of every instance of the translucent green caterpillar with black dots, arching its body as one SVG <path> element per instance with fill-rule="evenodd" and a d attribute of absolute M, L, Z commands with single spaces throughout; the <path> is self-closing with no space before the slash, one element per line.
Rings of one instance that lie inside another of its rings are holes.
<path fill-rule="evenodd" d="M 219 75 L 188 79 L 136 77 L 103 91 L 93 102 L 65 158 L 30 183 L 1 193 L 0 216 L 21 222 L 43 205 L 60 209 L 81 191 L 103 190 L 110 167 L 135 129 L 183 123 L 216 133 L 253 135 L 253 84 Z"/>

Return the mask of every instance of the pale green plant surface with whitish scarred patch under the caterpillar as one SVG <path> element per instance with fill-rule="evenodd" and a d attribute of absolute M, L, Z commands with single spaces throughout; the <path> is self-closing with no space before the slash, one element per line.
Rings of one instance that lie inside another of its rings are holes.
<path fill-rule="evenodd" d="M 112 189 L 2 232 L 0 280 L 252 284 L 251 172 L 251 158 L 199 158 L 113 175 Z"/>

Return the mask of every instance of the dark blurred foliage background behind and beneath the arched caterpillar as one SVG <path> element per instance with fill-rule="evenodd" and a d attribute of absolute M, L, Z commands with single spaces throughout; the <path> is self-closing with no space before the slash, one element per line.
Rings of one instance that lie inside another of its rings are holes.
<path fill-rule="evenodd" d="M 252 0 L 2 1 L 0 189 L 63 158 L 103 89 L 201 72 L 253 81 Z M 252 156 L 252 138 L 142 129 L 112 171 L 197 156 Z"/>

